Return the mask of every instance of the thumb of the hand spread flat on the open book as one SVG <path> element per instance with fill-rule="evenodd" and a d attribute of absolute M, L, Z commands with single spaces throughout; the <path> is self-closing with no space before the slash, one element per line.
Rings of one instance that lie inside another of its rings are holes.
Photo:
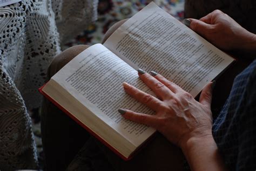
<path fill-rule="evenodd" d="M 201 92 L 199 102 L 208 108 L 211 108 L 211 102 L 212 102 L 212 91 L 215 86 L 215 81 L 212 81 L 211 83 L 208 83 L 203 91 Z"/>

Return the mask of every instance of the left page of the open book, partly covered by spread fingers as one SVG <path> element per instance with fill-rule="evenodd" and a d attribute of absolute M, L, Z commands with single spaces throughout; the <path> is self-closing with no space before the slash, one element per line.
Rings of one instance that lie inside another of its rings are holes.
<path fill-rule="evenodd" d="M 119 108 L 154 113 L 124 92 L 124 81 L 145 92 L 152 92 L 138 78 L 136 70 L 102 44 L 93 45 L 78 54 L 51 79 L 134 146 L 139 146 L 155 132 L 153 128 L 126 120 L 118 113 Z"/>

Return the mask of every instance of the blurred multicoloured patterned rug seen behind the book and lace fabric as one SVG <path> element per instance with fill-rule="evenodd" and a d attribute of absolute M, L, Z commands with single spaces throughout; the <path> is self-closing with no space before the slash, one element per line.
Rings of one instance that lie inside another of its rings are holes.
<path fill-rule="evenodd" d="M 78 45 L 87 44 L 93 45 L 100 43 L 105 32 L 119 20 L 130 18 L 145 5 L 151 1 L 140 0 L 140 1 L 126 1 L 126 0 L 99 0 L 98 4 L 98 20 L 96 23 L 91 24 L 89 28 L 79 34 L 76 38 L 65 44 L 64 49 Z M 184 17 L 184 2 L 185 0 L 155 0 L 154 1 L 160 8 L 170 13 L 172 16 L 179 20 Z M 64 50 L 63 49 L 63 50 Z M 41 140 L 41 129 L 40 129 L 40 117 L 38 110 L 30 111 L 32 118 L 32 129 L 35 134 L 35 140 L 37 144 L 37 153 L 40 167 L 43 167 L 43 149 Z"/>

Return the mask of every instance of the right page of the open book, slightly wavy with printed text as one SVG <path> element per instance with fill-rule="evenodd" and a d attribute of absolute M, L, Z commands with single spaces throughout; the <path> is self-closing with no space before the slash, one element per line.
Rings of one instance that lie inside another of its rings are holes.
<path fill-rule="evenodd" d="M 134 69 L 153 70 L 193 97 L 233 61 L 151 2 L 104 43 Z"/>

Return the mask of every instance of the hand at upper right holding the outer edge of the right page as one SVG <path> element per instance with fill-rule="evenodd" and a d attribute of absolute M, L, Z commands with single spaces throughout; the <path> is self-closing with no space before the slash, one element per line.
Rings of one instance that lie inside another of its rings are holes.
<path fill-rule="evenodd" d="M 190 28 L 219 49 L 256 54 L 256 35 L 242 28 L 230 16 L 215 10 L 207 16 L 191 20 Z"/>

